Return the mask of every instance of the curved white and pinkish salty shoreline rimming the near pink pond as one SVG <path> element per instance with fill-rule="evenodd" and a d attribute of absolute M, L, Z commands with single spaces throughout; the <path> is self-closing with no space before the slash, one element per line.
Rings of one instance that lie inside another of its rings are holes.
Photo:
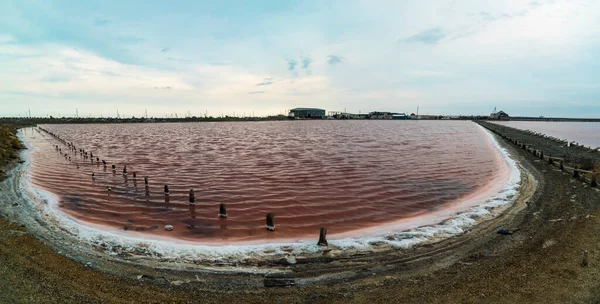
<path fill-rule="evenodd" d="M 315 239 L 277 240 L 268 244 L 239 243 L 215 246 L 213 244 L 179 241 L 172 238 L 153 237 L 135 232 L 128 232 L 127 235 L 124 235 L 124 233 L 113 227 L 80 223 L 76 219 L 63 214 L 56 207 L 58 198 L 50 192 L 33 186 L 28 173 L 26 173 L 27 171 L 24 174 L 15 176 L 20 177 L 18 179 L 20 189 L 27 194 L 32 210 L 37 209 L 38 213 L 45 214 L 45 218 L 40 219 L 40 221 L 45 221 L 48 229 L 58 228 L 54 230 L 70 234 L 80 242 L 104 247 L 109 254 L 125 251 L 142 253 L 147 258 L 156 258 L 161 261 L 203 260 L 210 264 L 222 261 L 235 263 L 255 259 L 279 259 L 290 255 L 309 257 L 331 250 L 343 254 L 341 252 L 347 250 L 377 250 L 381 245 L 386 245 L 389 248 L 406 249 L 417 244 L 438 242 L 459 235 L 479 222 L 499 215 L 512 204 L 512 198 L 519 187 L 520 172 L 506 150 L 499 146 L 491 133 L 483 128 L 481 130 L 487 134 L 489 143 L 495 149 L 494 152 L 501 157 L 503 167 L 508 168 L 508 172 L 505 172 L 508 176 L 506 176 L 507 180 L 505 180 L 504 185 L 495 189 L 492 185 L 494 192 L 498 190 L 498 193 L 490 197 L 489 189 L 488 191 L 478 191 L 467 198 L 461 199 L 459 203 L 454 203 L 449 207 L 424 216 L 377 225 L 360 231 L 331 235 L 330 245 L 326 248 L 316 245 L 316 236 Z M 22 152 L 22 157 L 25 159 L 22 167 L 27 169 L 31 165 L 31 160 L 27 154 L 31 153 L 32 147 L 22 136 L 20 139 L 29 148 L 29 150 Z M 21 168 L 17 168 L 17 170 L 22 171 Z M 487 187 L 497 182 L 497 179 L 494 178 Z M 40 209 L 39 206 L 43 206 L 43 208 Z M 367 235 L 357 237 L 357 235 L 365 232 L 367 232 Z"/>

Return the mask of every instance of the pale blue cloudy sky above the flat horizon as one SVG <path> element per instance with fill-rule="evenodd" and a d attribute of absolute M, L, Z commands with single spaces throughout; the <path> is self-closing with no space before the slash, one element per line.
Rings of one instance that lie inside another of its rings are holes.
<path fill-rule="evenodd" d="M 0 116 L 600 117 L 600 1 L 0 1 Z"/>

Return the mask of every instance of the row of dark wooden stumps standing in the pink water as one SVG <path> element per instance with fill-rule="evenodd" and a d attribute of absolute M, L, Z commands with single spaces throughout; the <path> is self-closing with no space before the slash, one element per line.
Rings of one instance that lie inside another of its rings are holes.
<path fill-rule="evenodd" d="M 57 141 L 59 141 L 60 143 L 62 143 L 63 145 L 66 145 L 69 150 L 71 150 L 74 153 L 77 153 L 77 149 L 75 147 L 75 145 L 73 144 L 73 142 L 68 142 L 64 139 L 62 139 L 59 135 L 52 133 L 48 130 L 45 130 L 41 127 L 38 127 L 40 130 L 46 132 L 47 134 L 51 135 L 52 137 L 54 137 Z M 55 149 L 62 155 L 62 148 L 60 148 L 58 145 L 55 145 Z M 88 157 L 88 152 L 85 151 L 85 149 L 79 149 L 79 152 L 81 154 L 82 157 L 84 157 L 84 159 L 87 159 Z M 66 157 L 66 153 L 65 153 L 65 158 Z M 91 159 L 91 163 L 94 163 L 94 154 L 92 152 L 89 152 L 89 157 Z M 69 161 L 71 160 L 70 157 L 68 157 Z M 96 163 L 99 164 L 100 163 L 100 158 L 96 155 Z M 102 160 L 102 164 L 104 166 L 104 169 L 106 169 L 107 167 L 107 163 L 105 160 Z M 79 165 L 77 165 L 77 167 L 79 168 Z M 112 171 L 113 174 L 116 173 L 116 166 L 113 164 L 112 165 Z M 123 166 L 123 177 L 127 178 L 127 165 Z M 92 179 L 95 180 L 96 175 L 94 172 L 92 172 Z M 133 180 L 135 181 L 137 179 L 137 173 L 134 171 L 133 172 Z M 148 189 L 150 187 L 150 184 L 148 183 L 148 176 L 144 177 L 144 186 L 146 188 L 146 192 L 148 192 Z M 107 187 L 108 191 L 111 191 L 110 187 Z M 164 185 L 164 194 L 165 194 L 165 200 L 168 200 L 169 197 L 169 185 Z M 194 189 L 190 189 L 189 191 L 189 205 L 190 206 L 194 206 L 196 205 L 196 197 L 194 194 Z M 227 218 L 227 205 L 225 203 L 221 203 L 219 205 L 219 218 L 222 219 L 226 219 Z M 265 229 L 268 231 L 275 231 L 275 213 L 267 213 L 266 215 L 266 223 L 265 223 Z M 317 242 L 317 245 L 319 246 L 327 246 L 327 229 L 324 227 L 321 227 L 320 231 L 319 231 L 319 241 Z"/>

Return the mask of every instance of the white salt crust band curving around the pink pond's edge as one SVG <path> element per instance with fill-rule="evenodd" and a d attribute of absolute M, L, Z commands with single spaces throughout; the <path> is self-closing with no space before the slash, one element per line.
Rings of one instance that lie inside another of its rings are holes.
<path fill-rule="evenodd" d="M 418 244 L 435 243 L 461 234 L 479 222 L 501 214 L 517 198 L 521 173 L 515 161 L 498 145 L 491 133 L 483 128 L 481 132 L 486 133 L 488 139 L 482 144 L 493 147 L 490 150 L 496 153 L 498 163 L 496 176 L 485 187 L 448 204 L 445 208 L 423 215 L 357 231 L 332 234 L 329 236 L 329 246 L 326 247 L 316 244 L 316 234 L 307 239 L 219 244 L 123 231 L 116 227 L 75 219 L 59 208 L 60 198 L 57 195 L 32 183 L 29 174 L 29 154 L 37 147 L 32 146 L 22 134 L 20 139 L 28 149 L 22 153 L 25 162 L 15 169 L 18 172 L 15 187 L 23 194 L 24 202 L 14 208 L 14 212 L 23 217 L 23 222 L 29 221 L 27 218 L 30 217 L 40 223 L 37 233 L 46 233 L 50 239 L 55 240 L 60 235 L 60 238 L 69 240 L 70 246 L 80 245 L 80 250 L 84 252 L 95 248 L 89 254 L 100 253 L 99 258 L 120 260 L 126 255 L 130 262 L 153 261 L 157 266 L 164 268 L 170 268 L 173 264 L 176 268 L 181 268 L 182 265 L 197 268 L 198 265 L 202 265 L 214 271 L 227 272 L 280 272 L 277 267 L 257 266 L 265 261 L 315 258 L 324 252 L 330 257 L 348 257 L 365 251 L 408 249 Z"/>

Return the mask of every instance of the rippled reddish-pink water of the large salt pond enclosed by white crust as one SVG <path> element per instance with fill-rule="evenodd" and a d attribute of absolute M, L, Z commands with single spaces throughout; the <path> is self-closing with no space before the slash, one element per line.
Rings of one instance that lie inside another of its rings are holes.
<path fill-rule="evenodd" d="M 189 240 L 316 237 L 320 227 L 334 234 L 410 217 L 476 191 L 498 165 L 487 135 L 471 122 L 43 127 L 110 166 L 77 151 L 68 152 L 69 162 L 55 152 L 59 143 L 50 136 L 27 133 L 38 148 L 32 152 L 33 182 L 60 195 L 64 212 Z M 137 178 L 147 176 L 148 185 L 116 174 L 125 166 Z M 195 206 L 188 204 L 190 189 Z M 221 203 L 226 219 L 218 216 Z M 275 213 L 275 232 L 264 228 L 269 212 Z M 162 229 L 167 224 L 173 231 Z"/>

